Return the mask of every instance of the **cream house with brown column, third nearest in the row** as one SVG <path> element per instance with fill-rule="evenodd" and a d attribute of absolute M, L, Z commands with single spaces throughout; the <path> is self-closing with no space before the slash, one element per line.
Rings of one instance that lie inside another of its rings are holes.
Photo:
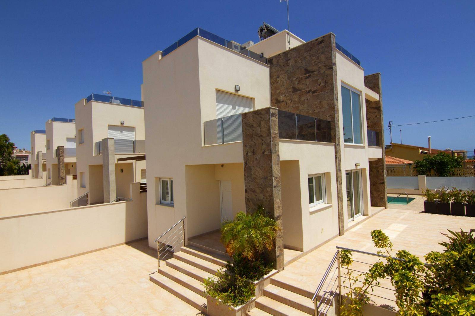
<path fill-rule="evenodd" d="M 46 182 L 65 183 L 66 175 L 76 178 L 75 120 L 54 117 L 46 122 Z"/>

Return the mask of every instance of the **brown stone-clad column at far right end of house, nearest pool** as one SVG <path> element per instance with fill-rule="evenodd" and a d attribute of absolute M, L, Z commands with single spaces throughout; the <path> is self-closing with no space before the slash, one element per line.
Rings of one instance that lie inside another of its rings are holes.
<path fill-rule="evenodd" d="M 369 74 L 364 77 L 364 85 L 380 95 L 379 101 L 366 100 L 366 125 L 368 130 L 379 133 L 382 158 L 370 160 L 370 195 L 371 206 L 388 208 L 386 198 L 386 161 L 384 158 L 384 122 L 381 91 L 381 74 Z"/>

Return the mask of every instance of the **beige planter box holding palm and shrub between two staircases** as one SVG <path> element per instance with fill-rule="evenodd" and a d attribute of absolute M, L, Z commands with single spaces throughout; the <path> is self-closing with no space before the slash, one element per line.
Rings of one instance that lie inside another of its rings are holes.
<path fill-rule="evenodd" d="M 256 306 L 256 298 L 262 296 L 262 290 L 270 284 L 270 277 L 276 273 L 277 270 L 272 270 L 262 277 L 262 279 L 254 281 L 253 283 L 256 285 L 255 297 L 244 305 L 230 307 L 228 305 L 222 304 L 214 297 L 207 297 L 208 316 L 245 316 L 247 312 Z M 229 273 L 229 275 L 231 274 Z"/>

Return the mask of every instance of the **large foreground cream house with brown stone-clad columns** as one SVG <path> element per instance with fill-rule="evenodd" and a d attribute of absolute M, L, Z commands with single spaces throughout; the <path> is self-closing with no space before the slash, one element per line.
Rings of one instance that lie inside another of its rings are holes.
<path fill-rule="evenodd" d="M 282 269 L 283 247 L 386 207 L 380 74 L 333 33 L 287 34 L 245 49 L 198 28 L 143 61 L 151 247 L 185 216 L 189 239 L 263 205 Z"/>

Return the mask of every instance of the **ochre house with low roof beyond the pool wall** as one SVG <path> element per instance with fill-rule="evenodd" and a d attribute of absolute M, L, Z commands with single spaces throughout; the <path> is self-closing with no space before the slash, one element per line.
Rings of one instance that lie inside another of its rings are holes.
<path fill-rule="evenodd" d="M 399 143 L 391 143 L 389 146 L 386 146 L 385 154 L 394 158 L 401 158 L 405 160 L 417 161 L 422 160 L 425 155 L 436 155 L 439 152 L 445 152 L 448 155 L 454 156 L 466 156 L 466 150 L 451 150 L 451 149 L 429 149 L 427 147 L 412 146 Z"/>

